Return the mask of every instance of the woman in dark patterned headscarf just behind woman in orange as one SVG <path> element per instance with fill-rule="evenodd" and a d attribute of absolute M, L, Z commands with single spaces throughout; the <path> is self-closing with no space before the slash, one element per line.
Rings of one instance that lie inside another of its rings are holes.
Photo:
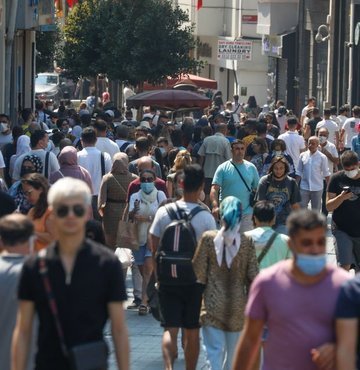
<path fill-rule="evenodd" d="M 41 159 L 35 154 L 27 155 L 24 157 L 23 163 L 21 164 L 20 177 L 23 177 L 29 173 L 42 173 L 42 170 L 43 165 Z M 14 182 L 11 185 L 9 189 L 9 194 L 15 200 L 17 211 L 26 215 L 32 205 L 25 197 L 20 180 Z"/>

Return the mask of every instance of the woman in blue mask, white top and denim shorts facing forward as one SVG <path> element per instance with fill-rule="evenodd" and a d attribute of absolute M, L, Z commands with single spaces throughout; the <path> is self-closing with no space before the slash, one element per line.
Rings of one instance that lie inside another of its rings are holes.
<path fill-rule="evenodd" d="M 149 226 L 161 202 L 166 199 L 164 192 L 155 188 L 156 175 L 152 170 L 144 170 L 140 174 L 140 190 L 130 197 L 129 218 L 138 224 L 139 249 L 133 251 L 135 264 L 139 267 L 143 278 L 142 297 L 139 315 L 148 313 L 146 287 L 153 271 L 152 253 L 147 245 Z"/>

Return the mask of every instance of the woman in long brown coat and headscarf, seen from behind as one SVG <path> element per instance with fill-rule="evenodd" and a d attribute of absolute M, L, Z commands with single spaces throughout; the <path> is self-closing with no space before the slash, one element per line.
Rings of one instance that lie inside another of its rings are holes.
<path fill-rule="evenodd" d="M 129 184 L 137 176 L 128 170 L 129 159 L 125 153 L 116 153 L 111 170 L 100 185 L 98 209 L 102 216 L 106 245 L 115 250 L 117 228 L 126 206 Z"/>

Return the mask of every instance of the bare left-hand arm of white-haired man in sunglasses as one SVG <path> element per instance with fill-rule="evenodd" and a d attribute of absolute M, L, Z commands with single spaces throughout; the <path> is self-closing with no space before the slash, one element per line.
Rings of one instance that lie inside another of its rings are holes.
<path fill-rule="evenodd" d="M 25 370 L 30 351 L 35 305 L 20 301 L 11 346 L 11 370 Z"/>

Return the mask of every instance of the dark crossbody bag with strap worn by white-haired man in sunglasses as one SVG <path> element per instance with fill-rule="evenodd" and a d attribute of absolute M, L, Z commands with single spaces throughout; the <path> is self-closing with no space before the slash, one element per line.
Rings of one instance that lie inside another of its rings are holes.
<path fill-rule="evenodd" d="M 72 370 L 106 370 L 108 348 L 103 340 L 79 344 L 70 349 L 65 344 L 64 332 L 60 323 L 56 300 L 50 284 L 46 265 L 46 249 L 39 252 L 40 275 L 44 284 L 51 314 L 60 339 L 61 351 L 69 360 Z"/>

